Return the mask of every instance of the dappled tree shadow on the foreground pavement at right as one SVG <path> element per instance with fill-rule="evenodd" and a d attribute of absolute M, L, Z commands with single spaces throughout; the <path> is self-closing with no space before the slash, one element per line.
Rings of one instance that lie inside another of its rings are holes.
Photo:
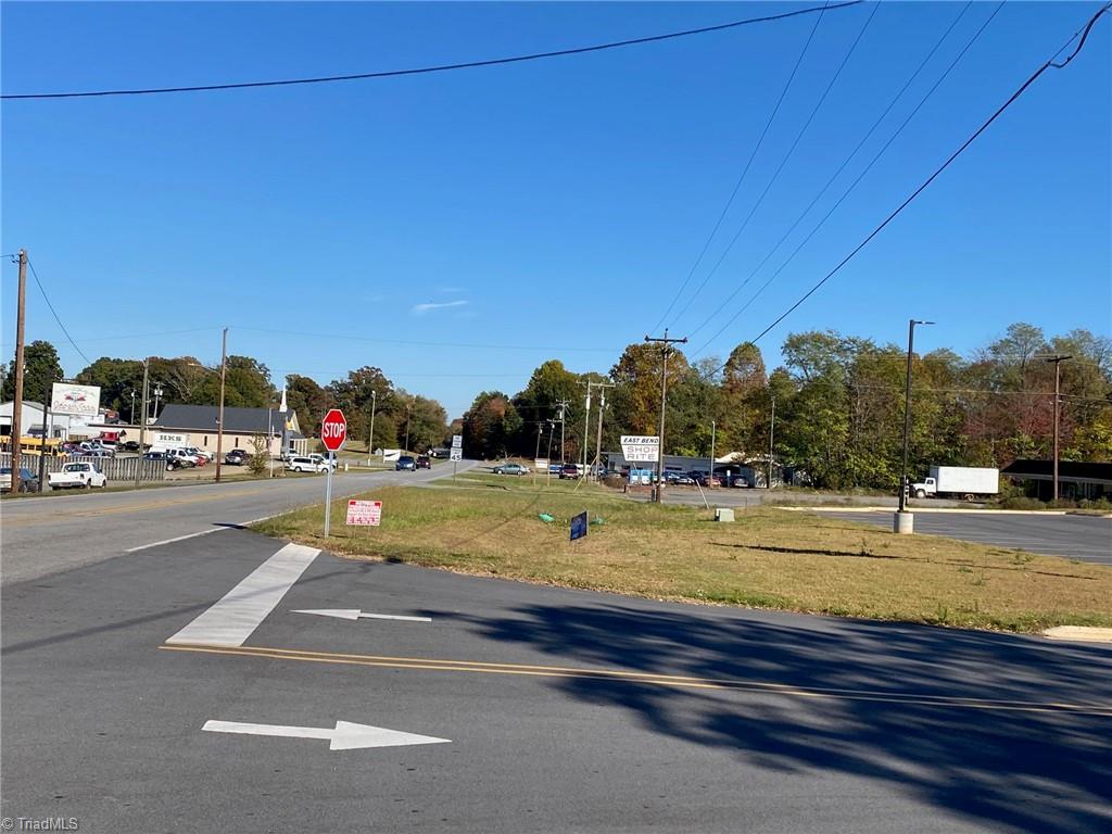
<path fill-rule="evenodd" d="M 512 618 L 471 625 L 488 638 L 549 653 L 560 665 L 876 693 L 877 699 L 854 699 L 553 683 L 575 698 L 631 711 L 654 732 L 735 751 L 748 764 L 881 781 L 994 831 L 1112 831 L 1112 717 L 884 699 L 914 694 L 1108 709 L 1106 647 L 864 620 L 798 622 L 618 604 L 526 606 Z"/>

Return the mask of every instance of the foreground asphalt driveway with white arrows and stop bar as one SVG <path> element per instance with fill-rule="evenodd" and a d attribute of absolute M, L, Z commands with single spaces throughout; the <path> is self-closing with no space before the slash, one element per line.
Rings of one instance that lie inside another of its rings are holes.
<path fill-rule="evenodd" d="M 217 605 L 281 547 L 231 529 L 6 585 L 2 814 L 119 834 L 1112 830 L 1112 647 L 327 554 Z M 241 646 L 168 647 L 272 593 Z M 337 721 L 449 743 L 202 729 Z"/>

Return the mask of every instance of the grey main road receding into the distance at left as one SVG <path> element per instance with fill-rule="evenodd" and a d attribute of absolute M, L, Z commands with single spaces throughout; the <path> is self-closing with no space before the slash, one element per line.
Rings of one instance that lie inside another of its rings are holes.
<path fill-rule="evenodd" d="M 471 466 L 464 461 L 459 471 Z M 337 473 L 332 492 L 342 497 L 384 484 L 421 484 L 447 471 L 440 464 L 416 473 Z M 317 475 L 4 502 L 0 583 L 33 579 L 181 536 L 217 533 L 324 499 L 325 476 Z"/>

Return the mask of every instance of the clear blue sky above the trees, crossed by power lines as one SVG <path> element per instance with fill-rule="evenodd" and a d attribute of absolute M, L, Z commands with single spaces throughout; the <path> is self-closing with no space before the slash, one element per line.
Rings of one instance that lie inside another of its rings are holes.
<path fill-rule="evenodd" d="M 708 26 L 804 3 L 4 3 L 3 92 L 396 69 Z M 876 10 L 687 312 L 725 356 L 825 275 L 1092 14 L 1007 3 L 856 189 L 755 299 L 996 8 L 974 3 L 861 153 L 728 304 L 961 12 Z M 824 16 L 703 281 L 873 13 Z M 275 380 L 361 365 L 460 414 L 557 357 L 607 370 L 695 262 L 814 18 L 451 73 L 161 97 L 6 101 L 3 252 L 26 247 L 81 350 L 229 350 Z M 967 353 L 1016 320 L 1112 331 L 1112 18 L 761 341 L 836 328 Z M 16 268 L 4 265 L 12 349 Z M 752 299 L 752 300 L 751 300 Z M 189 332 L 181 332 L 188 330 Z M 178 332 L 169 332 L 178 331 Z M 158 335 L 147 335 L 158 334 Z M 33 281 L 28 337 L 66 342 Z M 451 347 L 445 346 L 451 344 Z"/>

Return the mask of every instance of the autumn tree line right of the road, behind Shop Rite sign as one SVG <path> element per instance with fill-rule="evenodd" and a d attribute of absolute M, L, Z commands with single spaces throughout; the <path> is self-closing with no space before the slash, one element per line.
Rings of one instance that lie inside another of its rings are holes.
<path fill-rule="evenodd" d="M 725 361 L 691 364 L 674 350 L 665 451 L 706 456 L 713 436 L 716 457 L 765 461 L 772 440 L 776 461 L 800 467 L 816 486 L 894 488 L 906 349 L 825 330 L 792 334 L 781 353 L 783 366 L 767 373 L 752 344 L 738 345 Z M 1046 337 L 1020 322 L 970 358 L 944 348 L 913 356 L 911 471 L 1050 457 L 1054 364 L 1046 360 L 1062 355 L 1072 358 L 1061 364 L 1061 457 L 1112 460 L 1112 339 L 1082 329 Z M 486 458 L 544 457 L 552 449 L 555 459 L 582 459 L 588 380 L 615 386 L 607 390 L 604 450 L 617 450 L 622 434 L 656 435 L 663 358 L 655 345 L 633 344 L 605 375 L 546 361 L 522 391 L 475 398 L 464 418 L 465 449 Z M 588 457 L 597 408 L 596 396 Z"/>

